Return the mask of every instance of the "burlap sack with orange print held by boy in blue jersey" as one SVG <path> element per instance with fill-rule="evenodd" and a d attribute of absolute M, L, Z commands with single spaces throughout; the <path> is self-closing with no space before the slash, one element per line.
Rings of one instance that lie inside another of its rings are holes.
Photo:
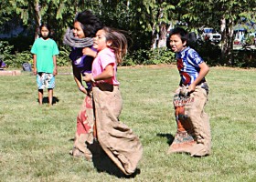
<path fill-rule="evenodd" d="M 174 96 L 177 132 L 167 153 L 187 152 L 192 157 L 208 156 L 211 136 L 209 118 L 204 112 L 208 101 L 207 91 L 202 86 L 197 86 L 189 95 L 186 89 L 187 87 L 179 89 Z"/>

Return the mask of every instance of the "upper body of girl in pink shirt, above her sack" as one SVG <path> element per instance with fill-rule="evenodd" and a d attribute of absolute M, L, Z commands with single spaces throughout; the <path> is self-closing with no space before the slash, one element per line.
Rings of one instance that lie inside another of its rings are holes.
<path fill-rule="evenodd" d="M 94 55 L 96 57 L 92 63 L 92 74 L 85 76 L 84 81 L 119 86 L 116 79 L 116 67 L 126 54 L 126 37 L 109 27 L 104 27 L 97 32 L 93 48 L 97 49 L 98 53 Z"/>

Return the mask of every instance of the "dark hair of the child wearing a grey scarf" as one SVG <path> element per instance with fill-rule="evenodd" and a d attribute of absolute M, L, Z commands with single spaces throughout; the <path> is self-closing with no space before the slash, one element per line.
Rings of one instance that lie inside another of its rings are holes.
<path fill-rule="evenodd" d="M 100 19 L 89 10 L 78 13 L 75 17 L 75 22 L 80 22 L 80 26 L 86 37 L 94 37 L 97 31 L 103 27 Z"/>

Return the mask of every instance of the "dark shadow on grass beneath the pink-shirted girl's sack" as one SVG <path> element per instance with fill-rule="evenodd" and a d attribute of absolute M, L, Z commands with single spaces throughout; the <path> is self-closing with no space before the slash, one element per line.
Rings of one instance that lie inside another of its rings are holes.
<path fill-rule="evenodd" d="M 106 172 L 115 177 L 123 177 L 123 178 L 133 178 L 140 174 L 140 169 L 136 169 L 135 172 L 127 176 L 123 174 L 123 171 L 118 168 L 110 157 L 103 151 L 100 144 L 95 142 L 88 146 L 92 153 L 92 163 L 93 166 L 97 169 L 98 172 Z"/>

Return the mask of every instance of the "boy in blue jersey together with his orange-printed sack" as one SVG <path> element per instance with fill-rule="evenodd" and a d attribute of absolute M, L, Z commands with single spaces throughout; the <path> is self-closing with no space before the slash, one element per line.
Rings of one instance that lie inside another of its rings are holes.
<path fill-rule="evenodd" d="M 173 29 L 168 41 L 168 47 L 176 53 L 176 66 L 181 77 L 174 96 L 177 132 L 168 153 L 186 152 L 191 157 L 208 156 L 211 136 L 204 106 L 208 100 L 205 76 L 209 67 L 187 45 L 188 34 L 183 28 Z"/>

